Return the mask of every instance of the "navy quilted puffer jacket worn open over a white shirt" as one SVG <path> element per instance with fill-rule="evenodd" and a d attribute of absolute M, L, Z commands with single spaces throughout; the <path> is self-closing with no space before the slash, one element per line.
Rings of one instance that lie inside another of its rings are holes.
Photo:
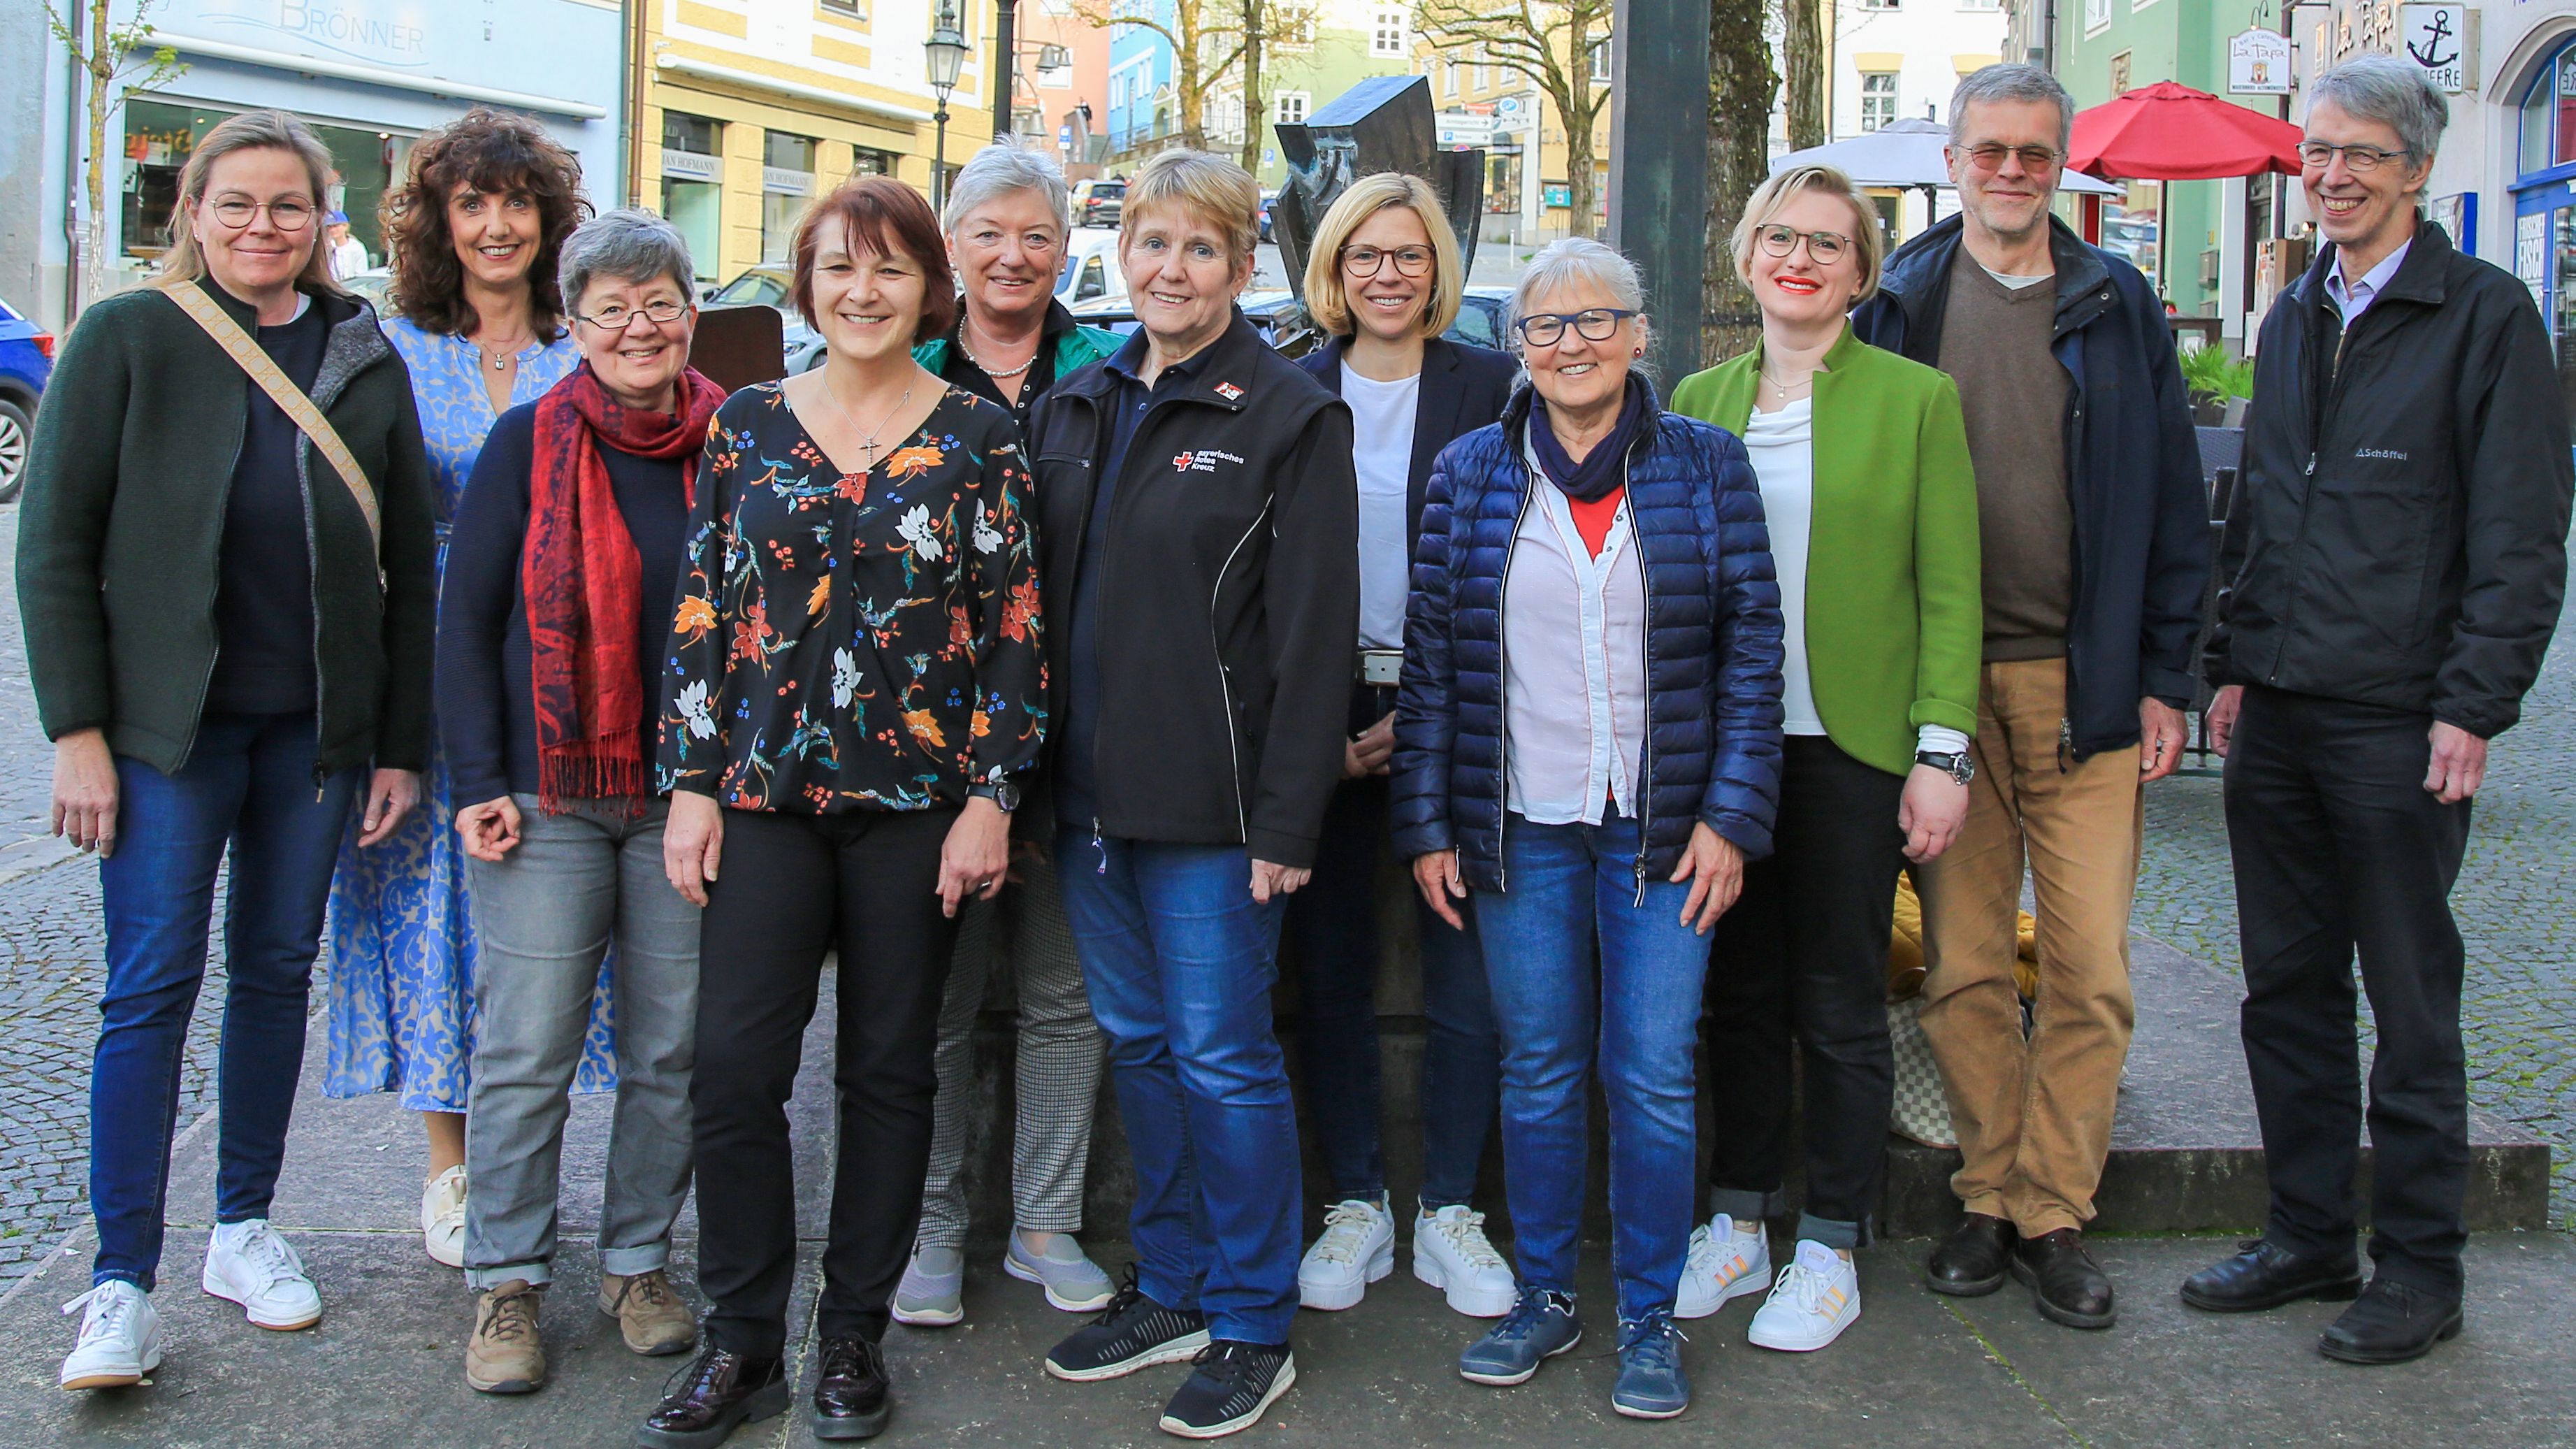
<path fill-rule="evenodd" d="M 1651 397 L 1649 397 L 1651 405 Z M 1672 874 L 1690 828 L 1772 851 L 1780 804 L 1780 585 L 1744 443 L 1651 410 L 1628 456 L 1646 562 L 1646 851 Z M 1476 890 L 1502 877 L 1502 580 L 1528 505 L 1530 392 L 1432 464 L 1396 699 L 1394 833 L 1404 859 L 1458 848 Z M 1540 487 L 1553 487 L 1538 482 Z M 1643 877 L 1641 877 L 1643 879 Z"/>

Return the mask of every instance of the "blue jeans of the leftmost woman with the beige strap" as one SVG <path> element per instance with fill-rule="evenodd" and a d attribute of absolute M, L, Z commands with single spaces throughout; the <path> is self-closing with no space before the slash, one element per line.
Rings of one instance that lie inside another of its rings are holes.
<path fill-rule="evenodd" d="M 304 1073 L 322 908 L 363 771 L 314 786 L 312 714 L 209 714 L 175 776 L 116 758 L 116 853 L 98 861 L 108 985 L 90 1065 L 90 1281 L 160 1271 L 180 1052 L 224 897 L 224 1049 L 214 1220 L 268 1217 Z"/>

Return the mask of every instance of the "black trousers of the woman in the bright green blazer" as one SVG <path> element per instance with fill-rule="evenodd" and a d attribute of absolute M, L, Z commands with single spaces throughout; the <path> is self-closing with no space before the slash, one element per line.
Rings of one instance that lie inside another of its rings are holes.
<path fill-rule="evenodd" d="M 1801 1238 L 1857 1248 L 1878 1207 L 1896 1106 L 1888 1047 L 1888 931 L 1906 838 L 1904 776 L 1821 735 L 1783 745 L 1780 820 L 1767 861 L 1718 918 L 1703 1044 L 1721 1122 L 1710 1209 L 1775 1217 L 1788 1158 L 1790 1034 L 1806 1060 Z"/>

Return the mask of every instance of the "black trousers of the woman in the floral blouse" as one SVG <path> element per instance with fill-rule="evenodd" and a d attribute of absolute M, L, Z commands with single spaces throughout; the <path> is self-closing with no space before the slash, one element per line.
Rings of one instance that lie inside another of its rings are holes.
<path fill-rule="evenodd" d="M 822 1256 L 827 1338 L 884 1338 L 930 1171 L 940 995 L 956 920 L 940 846 L 956 810 L 724 812 L 698 980 L 698 1292 L 719 1348 L 778 1356 L 796 1284 L 788 1093 L 824 951 L 840 949 L 840 1155 Z"/>

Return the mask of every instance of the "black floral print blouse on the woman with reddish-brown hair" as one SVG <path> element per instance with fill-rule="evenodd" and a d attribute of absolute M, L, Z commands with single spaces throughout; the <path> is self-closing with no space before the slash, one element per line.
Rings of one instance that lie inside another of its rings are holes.
<path fill-rule="evenodd" d="M 775 382 L 706 438 L 662 688 L 662 789 L 734 810 L 930 810 L 1046 732 L 1028 462 L 956 387 L 868 472 Z"/>

